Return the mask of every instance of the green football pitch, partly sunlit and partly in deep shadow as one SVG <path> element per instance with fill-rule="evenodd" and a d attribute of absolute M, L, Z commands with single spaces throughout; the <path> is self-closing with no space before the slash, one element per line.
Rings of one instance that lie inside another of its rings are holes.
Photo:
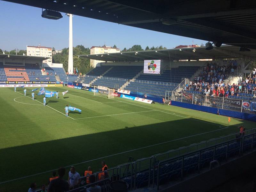
<path fill-rule="evenodd" d="M 35 88 L 35 87 L 33 87 Z M 31 182 L 48 184 L 51 170 L 76 165 L 83 175 L 97 172 L 101 160 L 109 168 L 171 149 L 255 128 L 255 122 L 186 108 L 108 99 L 68 87 L 57 100 L 31 99 L 33 88 L 0 88 L 0 191 L 27 191 Z M 35 92 L 37 93 L 38 90 Z M 65 106 L 82 110 L 65 116 Z M 66 174 L 67 175 L 67 174 Z"/>

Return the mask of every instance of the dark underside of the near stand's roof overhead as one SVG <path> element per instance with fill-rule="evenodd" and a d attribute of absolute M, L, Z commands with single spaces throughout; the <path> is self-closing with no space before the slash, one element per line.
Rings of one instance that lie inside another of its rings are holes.
<path fill-rule="evenodd" d="M 255 0 L 5 1 L 256 49 Z"/>

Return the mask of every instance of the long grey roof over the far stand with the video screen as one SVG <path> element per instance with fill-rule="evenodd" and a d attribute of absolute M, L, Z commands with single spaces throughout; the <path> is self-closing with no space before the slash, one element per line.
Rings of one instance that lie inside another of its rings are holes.
<path fill-rule="evenodd" d="M 193 50 L 195 50 L 193 52 Z M 256 59 L 256 50 L 251 52 L 240 52 L 239 47 L 222 45 L 212 50 L 205 50 L 205 47 L 163 49 L 153 51 L 132 51 L 120 53 L 104 53 L 93 55 L 79 55 L 88 59 L 101 61 L 143 61 L 151 59 L 161 60 L 198 60 L 198 59 Z"/>

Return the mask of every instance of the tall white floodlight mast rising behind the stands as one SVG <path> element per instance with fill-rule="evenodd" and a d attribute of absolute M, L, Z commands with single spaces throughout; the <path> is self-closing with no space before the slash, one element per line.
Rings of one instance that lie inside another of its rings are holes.
<path fill-rule="evenodd" d="M 73 28 L 72 28 L 72 14 L 67 13 L 69 17 L 69 48 L 68 48 L 68 74 L 74 74 L 73 67 Z"/>

